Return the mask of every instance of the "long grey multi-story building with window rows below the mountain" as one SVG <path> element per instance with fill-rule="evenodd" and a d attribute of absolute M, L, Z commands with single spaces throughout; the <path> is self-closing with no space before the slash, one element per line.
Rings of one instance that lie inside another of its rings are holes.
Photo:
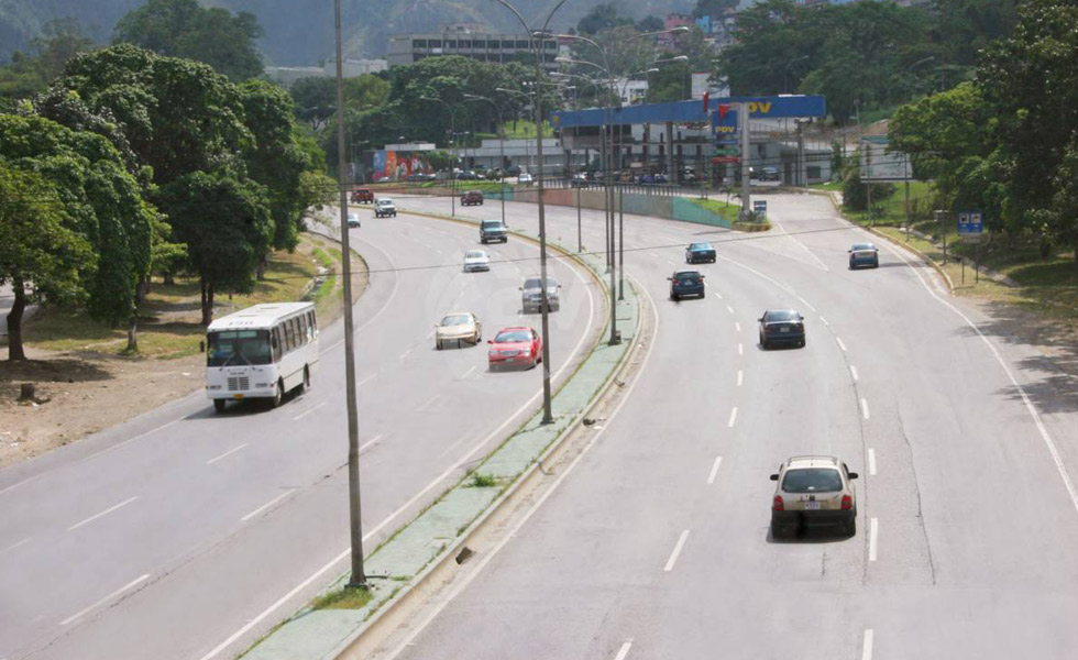
<path fill-rule="evenodd" d="M 484 25 L 448 23 L 438 32 L 409 32 L 386 37 L 386 59 L 389 66 L 419 62 L 425 57 L 461 55 L 480 62 L 535 62 L 531 40 L 527 34 L 491 32 Z M 557 70 L 558 40 L 542 40 L 542 65 Z"/>

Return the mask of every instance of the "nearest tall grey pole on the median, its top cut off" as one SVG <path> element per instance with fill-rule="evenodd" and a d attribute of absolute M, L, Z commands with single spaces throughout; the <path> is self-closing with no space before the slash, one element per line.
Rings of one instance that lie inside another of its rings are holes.
<path fill-rule="evenodd" d="M 341 271 L 344 278 L 344 408 L 348 418 L 349 537 L 352 574 L 348 586 L 366 588 L 363 571 L 363 522 L 360 506 L 360 422 L 355 406 L 355 346 L 352 338 L 352 251 L 348 227 L 348 193 L 344 189 L 344 76 L 341 72 L 341 0 L 333 0 L 337 34 L 337 179 L 341 207 Z"/>

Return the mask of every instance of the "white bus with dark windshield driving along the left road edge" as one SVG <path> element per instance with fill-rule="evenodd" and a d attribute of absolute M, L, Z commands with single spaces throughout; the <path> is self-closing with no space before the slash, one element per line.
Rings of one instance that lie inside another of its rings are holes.
<path fill-rule="evenodd" d="M 318 365 L 318 321 L 311 302 L 255 305 L 206 330 L 206 396 L 221 413 L 229 399 L 268 398 L 310 387 Z"/>

